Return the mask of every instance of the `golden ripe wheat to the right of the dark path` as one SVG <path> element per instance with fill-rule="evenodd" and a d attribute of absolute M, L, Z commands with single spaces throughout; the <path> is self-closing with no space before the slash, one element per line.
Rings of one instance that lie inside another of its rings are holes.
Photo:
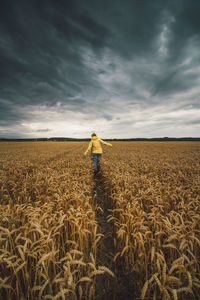
<path fill-rule="evenodd" d="M 124 142 L 113 148 L 102 169 L 114 261 L 137 299 L 199 299 L 200 143 Z"/>

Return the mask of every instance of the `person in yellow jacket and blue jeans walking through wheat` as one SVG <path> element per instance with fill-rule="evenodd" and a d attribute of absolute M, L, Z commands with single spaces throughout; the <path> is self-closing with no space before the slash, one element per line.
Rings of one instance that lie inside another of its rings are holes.
<path fill-rule="evenodd" d="M 96 133 L 92 133 L 91 141 L 87 150 L 85 151 L 84 155 L 87 155 L 88 151 L 91 150 L 93 163 L 94 163 L 94 172 L 95 174 L 99 171 L 99 158 L 102 156 L 103 151 L 101 144 L 107 145 L 112 147 L 111 144 L 104 142 L 103 140 L 99 139 Z"/>

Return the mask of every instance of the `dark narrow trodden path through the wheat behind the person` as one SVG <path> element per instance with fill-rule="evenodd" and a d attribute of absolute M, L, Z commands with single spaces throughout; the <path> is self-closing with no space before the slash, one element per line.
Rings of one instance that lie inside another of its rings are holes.
<path fill-rule="evenodd" d="M 133 291 L 127 285 L 126 278 L 120 276 L 122 274 L 120 266 L 116 266 L 113 262 L 115 232 L 112 222 L 107 222 L 109 209 L 112 207 L 101 171 L 94 176 L 93 201 L 96 206 L 98 233 L 104 235 L 97 246 L 97 266 L 105 266 L 115 274 L 115 278 L 108 274 L 97 276 L 95 300 L 134 299 Z"/>

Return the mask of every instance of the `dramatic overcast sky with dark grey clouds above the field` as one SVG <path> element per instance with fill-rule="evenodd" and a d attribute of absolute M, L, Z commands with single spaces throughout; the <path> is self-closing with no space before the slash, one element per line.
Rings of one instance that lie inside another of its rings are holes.
<path fill-rule="evenodd" d="M 199 0 L 1 0 L 0 137 L 199 137 L 199 14 Z"/>

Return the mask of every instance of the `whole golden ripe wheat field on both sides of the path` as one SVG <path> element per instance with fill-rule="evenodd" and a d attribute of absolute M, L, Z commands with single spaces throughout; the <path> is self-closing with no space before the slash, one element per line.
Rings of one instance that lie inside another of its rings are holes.
<path fill-rule="evenodd" d="M 112 299 L 199 299 L 200 143 L 112 144 L 95 179 L 88 143 L 0 143 L 1 299 L 108 299 L 102 278 Z"/>

